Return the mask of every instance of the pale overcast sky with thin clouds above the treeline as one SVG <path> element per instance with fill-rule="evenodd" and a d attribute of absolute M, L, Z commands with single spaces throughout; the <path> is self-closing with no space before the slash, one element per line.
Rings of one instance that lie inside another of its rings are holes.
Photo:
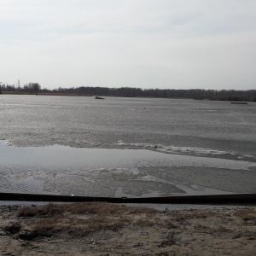
<path fill-rule="evenodd" d="M 255 0 L 0 0 L 0 81 L 256 89 Z"/>

